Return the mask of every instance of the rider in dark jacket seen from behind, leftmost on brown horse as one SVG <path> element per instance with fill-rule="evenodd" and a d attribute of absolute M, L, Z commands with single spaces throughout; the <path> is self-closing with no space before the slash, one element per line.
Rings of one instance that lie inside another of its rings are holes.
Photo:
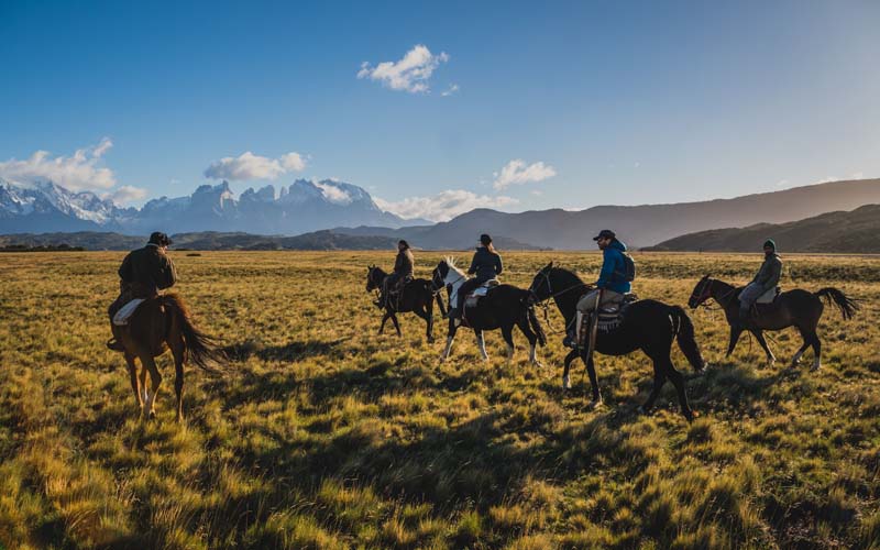
<path fill-rule="evenodd" d="M 170 288 L 177 282 L 177 271 L 166 251 L 172 244 L 168 235 L 158 231 L 150 235 L 143 249 L 129 253 L 119 267 L 119 297 L 110 305 L 110 326 L 113 338 L 107 346 L 113 351 L 124 351 L 117 336 L 113 316 L 122 306 L 135 298 L 155 298 L 158 292 Z"/>

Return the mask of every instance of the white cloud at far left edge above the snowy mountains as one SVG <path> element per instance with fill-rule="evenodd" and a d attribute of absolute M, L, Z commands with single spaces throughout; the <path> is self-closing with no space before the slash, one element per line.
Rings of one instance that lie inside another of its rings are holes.
<path fill-rule="evenodd" d="M 117 183 L 113 172 L 98 164 L 113 142 L 109 138 L 94 147 L 77 150 L 73 156 L 52 156 L 47 151 L 37 151 L 29 158 L 10 158 L 0 162 L 0 177 L 31 184 L 52 180 L 72 191 L 109 189 Z"/>

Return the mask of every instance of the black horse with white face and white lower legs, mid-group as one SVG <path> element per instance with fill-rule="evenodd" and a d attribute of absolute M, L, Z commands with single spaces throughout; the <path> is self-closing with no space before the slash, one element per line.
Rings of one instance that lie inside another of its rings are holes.
<path fill-rule="evenodd" d="M 455 299 L 455 293 L 466 279 L 468 275 L 455 267 L 455 261 L 451 257 L 442 260 L 433 270 L 432 283 L 438 288 L 447 287 L 450 302 Z M 528 290 L 514 285 L 498 285 L 481 298 L 476 306 L 465 306 L 462 326 L 473 329 L 480 345 L 480 354 L 484 360 L 488 360 L 488 354 L 486 353 L 486 342 L 483 340 L 483 331 L 495 329 L 502 329 L 504 341 L 507 342 L 507 361 L 514 359 L 514 327 L 516 326 L 529 341 L 529 362 L 536 366 L 541 365 L 537 358 L 536 342 L 546 345 L 547 337 L 538 321 L 538 316 L 535 315 L 530 296 Z M 457 330 L 454 319 L 450 318 L 447 346 L 440 358 L 441 362 L 449 358 Z"/>

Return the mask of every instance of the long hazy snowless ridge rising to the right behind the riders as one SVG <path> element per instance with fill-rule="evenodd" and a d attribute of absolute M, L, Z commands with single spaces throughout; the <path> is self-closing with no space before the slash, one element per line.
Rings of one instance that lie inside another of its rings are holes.
<path fill-rule="evenodd" d="M 784 223 L 834 210 L 880 204 L 880 179 L 859 179 L 795 187 L 774 193 L 702 202 L 598 206 L 581 211 L 540 210 L 505 213 L 477 209 L 431 227 L 405 227 L 383 234 L 409 239 L 427 249 L 471 246 L 482 232 L 517 242 L 561 250 L 592 249 L 592 238 L 612 229 L 630 246 L 641 248 L 708 229 L 754 223 Z M 351 234 L 375 228 L 339 229 Z"/>

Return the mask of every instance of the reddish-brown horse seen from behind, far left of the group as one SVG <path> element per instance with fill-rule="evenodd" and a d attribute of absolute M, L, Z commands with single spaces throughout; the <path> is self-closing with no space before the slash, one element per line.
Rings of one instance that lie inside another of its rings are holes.
<path fill-rule="evenodd" d="M 131 387 L 143 418 L 146 413 L 155 417 L 156 396 L 162 385 L 162 375 L 156 369 L 154 358 L 170 349 L 174 356 L 174 389 L 177 394 L 177 421 L 184 419 L 184 364 L 188 356 L 199 367 L 211 371 L 209 363 L 223 364 L 226 358 L 217 349 L 213 338 L 205 334 L 193 324 L 189 310 L 183 298 L 166 294 L 142 302 L 129 318 L 129 323 L 114 327 L 114 333 L 125 348 L 125 362 L 131 375 Z M 141 375 L 134 360 L 141 360 Z M 153 384 L 146 389 L 146 373 Z"/>

